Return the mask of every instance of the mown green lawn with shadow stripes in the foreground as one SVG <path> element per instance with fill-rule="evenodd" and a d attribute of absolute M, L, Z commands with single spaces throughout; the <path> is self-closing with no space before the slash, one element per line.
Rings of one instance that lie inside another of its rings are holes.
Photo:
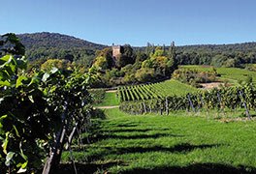
<path fill-rule="evenodd" d="M 75 160 L 83 162 L 80 173 L 256 172 L 255 122 L 222 123 L 185 112 L 105 112 L 105 120 L 94 120 L 90 144 L 84 138 L 81 149 L 74 147 Z M 69 160 L 69 153 L 62 160 Z"/>

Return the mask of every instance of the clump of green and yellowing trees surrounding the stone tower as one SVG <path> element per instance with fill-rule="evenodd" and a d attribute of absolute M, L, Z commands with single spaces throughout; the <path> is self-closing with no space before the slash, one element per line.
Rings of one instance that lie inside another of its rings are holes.
<path fill-rule="evenodd" d="M 142 82 L 160 81 L 171 76 L 176 70 L 175 45 L 173 54 L 168 55 L 166 51 L 158 46 L 146 54 L 137 54 L 129 44 L 121 46 L 121 54 L 114 58 L 113 67 L 108 66 L 106 49 L 97 52 L 94 67 L 101 73 L 101 83 L 95 87 L 116 86 L 122 84 L 134 84 Z M 109 50 L 109 49 L 108 49 Z M 108 54 L 110 56 L 110 54 Z M 117 69 L 116 69 L 117 68 Z M 120 73 L 115 73 L 121 70 Z"/>

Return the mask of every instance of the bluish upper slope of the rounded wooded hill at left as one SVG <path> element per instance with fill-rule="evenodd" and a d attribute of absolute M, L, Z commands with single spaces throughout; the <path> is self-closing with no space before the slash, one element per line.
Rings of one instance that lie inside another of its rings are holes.
<path fill-rule="evenodd" d="M 63 49 L 70 48 L 86 48 L 86 49 L 102 49 L 106 45 L 98 43 L 90 43 L 72 36 L 62 35 L 58 33 L 33 33 L 19 34 L 17 37 L 27 49 L 38 47 L 58 47 Z"/>

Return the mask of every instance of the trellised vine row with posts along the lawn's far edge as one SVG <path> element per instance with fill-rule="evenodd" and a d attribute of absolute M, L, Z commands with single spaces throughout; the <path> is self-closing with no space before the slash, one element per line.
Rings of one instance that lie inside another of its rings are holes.
<path fill-rule="evenodd" d="M 132 88 L 132 87 L 129 87 Z M 133 90 L 124 93 L 133 93 Z M 119 93 L 122 92 L 119 90 Z M 137 90 L 139 91 L 139 90 Z M 140 94 L 138 94 L 140 95 Z M 141 95 L 143 96 L 143 95 Z M 120 109 L 131 114 L 142 114 L 148 112 L 167 112 L 174 110 L 196 111 L 200 108 L 206 109 L 256 109 L 256 87 L 253 84 L 243 86 L 226 87 L 200 91 L 185 96 L 154 97 L 140 100 L 121 100 Z"/>

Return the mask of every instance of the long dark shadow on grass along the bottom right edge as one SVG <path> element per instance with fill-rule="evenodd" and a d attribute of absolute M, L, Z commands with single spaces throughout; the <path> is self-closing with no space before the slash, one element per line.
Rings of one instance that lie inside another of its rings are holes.
<path fill-rule="evenodd" d="M 235 167 L 232 165 L 225 165 L 221 163 L 195 163 L 187 166 L 171 166 L 171 167 L 157 167 L 153 169 L 132 168 L 131 170 L 120 172 L 123 174 L 253 174 L 256 169 L 247 166 Z"/>

